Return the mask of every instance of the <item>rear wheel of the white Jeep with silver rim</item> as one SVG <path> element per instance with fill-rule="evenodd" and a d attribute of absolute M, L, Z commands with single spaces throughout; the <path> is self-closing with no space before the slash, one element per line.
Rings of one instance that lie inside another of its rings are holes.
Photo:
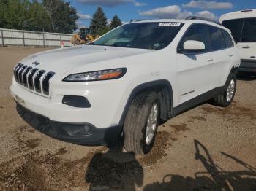
<path fill-rule="evenodd" d="M 236 93 L 236 75 L 230 74 L 230 77 L 227 79 L 227 85 L 225 91 L 222 94 L 217 95 L 214 98 L 214 104 L 217 106 L 227 107 L 233 101 Z"/>

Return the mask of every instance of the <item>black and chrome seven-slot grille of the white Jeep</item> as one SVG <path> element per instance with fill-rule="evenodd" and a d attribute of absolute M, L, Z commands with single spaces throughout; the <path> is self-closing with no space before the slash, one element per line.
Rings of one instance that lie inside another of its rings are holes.
<path fill-rule="evenodd" d="M 52 71 L 39 70 L 18 63 L 13 70 L 16 82 L 42 95 L 49 95 L 50 79 L 55 74 Z"/>

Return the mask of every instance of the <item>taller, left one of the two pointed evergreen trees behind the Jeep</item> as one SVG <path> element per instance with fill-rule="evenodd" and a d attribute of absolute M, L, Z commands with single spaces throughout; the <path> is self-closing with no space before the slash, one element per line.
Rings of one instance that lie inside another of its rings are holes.
<path fill-rule="evenodd" d="M 91 33 L 101 36 L 108 31 L 107 17 L 103 12 L 102 7 L 98 7 L 94 13 L 90 23 Z"/>

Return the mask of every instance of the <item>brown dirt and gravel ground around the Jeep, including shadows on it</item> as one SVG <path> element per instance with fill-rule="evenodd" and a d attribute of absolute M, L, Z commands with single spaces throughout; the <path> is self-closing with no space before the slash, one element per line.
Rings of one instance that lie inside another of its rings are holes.
<path fill-rule="evenodd" d="M 256 190 L 256 78 L 239 77 L 228 108 L 204 104 L 161 125 L 138 157 L 57 141 L 22 120 L 12 69 L 43 50 L 0 47 L 0 190 Z"/>

